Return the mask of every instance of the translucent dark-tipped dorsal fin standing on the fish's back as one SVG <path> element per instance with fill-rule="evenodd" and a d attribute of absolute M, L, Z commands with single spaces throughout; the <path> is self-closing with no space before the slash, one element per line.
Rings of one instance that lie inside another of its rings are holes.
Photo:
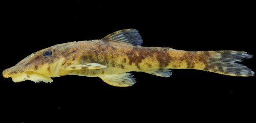
<path fill-rule="evenodd" d="M 114 32 L 102 39 L 104 42 L 118 42 L 124 44 L 130 44 L 135 46 L 141 46 L 143 40 L 136 29 L 123 29 Z"/>

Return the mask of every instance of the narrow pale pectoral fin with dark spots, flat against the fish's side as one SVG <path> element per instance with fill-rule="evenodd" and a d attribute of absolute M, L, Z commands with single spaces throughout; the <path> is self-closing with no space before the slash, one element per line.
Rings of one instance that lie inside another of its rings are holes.
<path fill-rule="evenodd" d="M 95 70 L 95 69 L 102 69 L 102 68 L 106 68 L 106 66 L 103 66 L 98 63 L 88 63 L 88 64 L 66 66 L 66 69 L 69 69 L 69 70 Z"/>

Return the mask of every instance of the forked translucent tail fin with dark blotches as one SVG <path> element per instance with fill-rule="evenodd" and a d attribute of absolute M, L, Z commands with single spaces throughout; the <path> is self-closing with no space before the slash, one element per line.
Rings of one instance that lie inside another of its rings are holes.
<path fill-rule="evenodd" d="M 229 76 L 254 76 L 254 72 L 237 62 L 252 58 L 244 51 L 210 51 L 205 71 L 215 72 Z"/>

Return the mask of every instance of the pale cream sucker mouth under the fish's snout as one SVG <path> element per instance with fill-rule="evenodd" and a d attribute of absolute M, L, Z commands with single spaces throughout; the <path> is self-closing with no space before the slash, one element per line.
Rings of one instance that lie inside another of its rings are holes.
<path fill-rule="evenodd" d="M 24 73 L 20 73 L 14 76 L 11 76 L 12 81 L 14 82 L 21 82 L 21 81 L 25 81 L 25 80 L 31 80 L 34 82 L 52 82 L 53 80 L 51 79 L 51 77 L 36 73 L 36 72 L 32 72 L 32 71 L 27 71 Z"/>

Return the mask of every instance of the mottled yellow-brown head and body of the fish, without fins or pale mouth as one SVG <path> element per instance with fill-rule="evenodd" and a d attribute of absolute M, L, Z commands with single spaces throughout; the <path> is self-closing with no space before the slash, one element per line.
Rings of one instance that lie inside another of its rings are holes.
<path fill-rule="evenodd" d="M 42 53 L 51 50 L 52 55 Z M 3 72 L 4 77 L 30 71 L 49 77 L 62 75 L 98 76 L 99 74 L 118 74 L 129 71 L 148 71 L 161 69 L 199 69 L 209 70 L 210 51 L 182 51 L 172 48 L 140 47 L 101 40 L 70 42 L 58 44 L 32 53 L 16 66 Z M 85 63 L 98 63 L 107 66 L 96 70 L 66 70 L 67 66 Z M 57 66 L 60 67 L 57 67 Z M 57 70 L 58 69 L 58 70 Z"/>

